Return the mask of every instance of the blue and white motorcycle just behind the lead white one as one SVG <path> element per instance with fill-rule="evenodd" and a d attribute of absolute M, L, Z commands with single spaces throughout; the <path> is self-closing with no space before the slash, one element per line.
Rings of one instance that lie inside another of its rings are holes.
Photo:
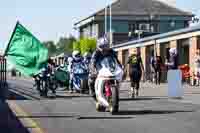
<path fill-rule="evenodd" d="M 88 91 L 88 75 L 89 72 L 87 67 L 85 66 L 84 62 L 74 62 L 72 68 L 73 74 L 73 87 L 74 89 L 84 93 Z"/>

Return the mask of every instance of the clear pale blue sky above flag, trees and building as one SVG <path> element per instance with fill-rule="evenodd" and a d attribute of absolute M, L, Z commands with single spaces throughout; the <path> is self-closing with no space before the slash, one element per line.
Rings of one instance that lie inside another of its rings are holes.
<path fill-rule="evenodd" d="M 57 41 L 73 24 L 103 8 L 108 0 L 1 0 L 0 48 L 5 47 L 17 20 L 41 41 Z M 177 0 L 177 7 L 200 15 L 199 0 Z"/>

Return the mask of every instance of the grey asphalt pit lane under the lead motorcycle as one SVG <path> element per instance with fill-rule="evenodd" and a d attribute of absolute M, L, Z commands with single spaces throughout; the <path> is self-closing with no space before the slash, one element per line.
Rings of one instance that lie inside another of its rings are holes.
<path fill-rule="evenodd" d="M 200 129 L 200 105 L 144 95 L 133 100 L 127 98 L 126 87 L 120 89 L 119 113 L 111 115 L 96 112 L 94 101 L 85 95 L 60 91 L 58 98 L 44 99 L 31 81 L 10 80 L 9 86 L 9 109 L 28 132 L 199 133 Z"/>

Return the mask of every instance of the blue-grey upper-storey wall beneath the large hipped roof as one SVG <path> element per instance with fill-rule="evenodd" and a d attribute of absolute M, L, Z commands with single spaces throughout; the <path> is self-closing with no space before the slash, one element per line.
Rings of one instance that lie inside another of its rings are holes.
<path fill-rule="evenodd" d="M 165 33 L 165 32 L 169 32 L 172 30 L 185 28 L 185 26 L 187 26 L 187 25 L 185 25 L 185 22 L 187 19 L 188 18 L 186 18 L 184 16 L 159 16 L 159 21 L 152 21 L 152 23 L 158 24 L 158 31 L 157 31 L 158 33 Z M 175 22 L 174 27 L 171 26 L 172 21 Z M 124 38 L 125 38 L 125 37 L 123 37 L 124 35 L 127 36 L 127 38 L 128 38 L 130 22 L 137 23 L 137 24 L 144 23 L 144 22 L 149 23 L 149 20 L 144 21 L 141 19 L 141 16 L 137 17 L 137 21 L 112 20 L 112 31 L 115 34 L 119 33 L 119 37 L 122 38 L 122 41 L 118 39 L 117 42 L 120 42 L 120 41 L 124 42 Z M 95 21 L 95 23 L 98 24 L 98 27 L 96 28 L 96 29 L 98 29 L 97 30 L 98 34 L 95 34 L 95 35 L 98 37 L 104 36 L 104 34 L 105 34 L 104 21 L 98 20 L 98 21 Z M 88 26 L 81 27 L 81 29 L 82 29 L 82 31 L 84 31 L 82 34 L 86 37 L 92 36 L 94 34 L 92 31 L 90 31 L 93 29 L 90 24 L 88 24 Z M 107 30 L 108 30 L 108 32 L 110 30 L 109 20 L 107 22 Z M 122 34 L 124 34 L 124 35 L 122 35 Z M 116 36 L 115 38 L 118 38 L 118 36 Z M 128 41 L 128 39 L 126 41 Z M 113 42 L 116 42 L 116 41 L 113 41 Z"/>

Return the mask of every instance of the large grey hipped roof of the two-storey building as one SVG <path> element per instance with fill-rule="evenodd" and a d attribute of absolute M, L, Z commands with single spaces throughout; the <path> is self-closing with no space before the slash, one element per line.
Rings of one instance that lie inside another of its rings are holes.
<path fill-rule="evenodd" d="M 93 16 L 103 16 L 105 14 L 105 9 L 102 9 L 89 17 L 77 22 L 89 19 Z M 112 3 L 112 15 L 173 15 L 173 16 L 193 16 L 192 13 L 183 11 L 181 9 L 175 8 L 158 0 L 117 0 Z"/>

